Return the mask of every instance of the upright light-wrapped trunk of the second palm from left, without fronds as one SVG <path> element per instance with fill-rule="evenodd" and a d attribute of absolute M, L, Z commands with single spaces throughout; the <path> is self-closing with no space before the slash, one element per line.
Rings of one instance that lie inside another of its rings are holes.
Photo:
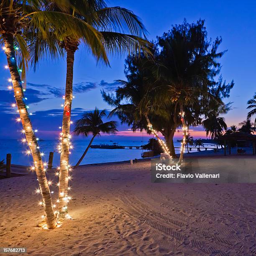
<path fill-rule="evenodd" d="M 77 48 L 76 48 L 77 49 Z M 65 102 L 62 118 L 62 136 L 61 136 L 61 155 L 59 171 L 59 206 L 58 210 L 61 217 L 67 214 L 67 196 L 69 185 L 69 141 L 70 141 L 70 116 L 73 99 L 73 67 L 74 67 L 74 47 L 67 46 L 67 77 Z"/>

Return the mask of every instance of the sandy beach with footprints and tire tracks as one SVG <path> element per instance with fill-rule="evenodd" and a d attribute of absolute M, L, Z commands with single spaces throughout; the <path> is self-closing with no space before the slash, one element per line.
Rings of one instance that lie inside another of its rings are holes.
<path fill-rule="evenodd" d="M 35 175 L 0 180 L 0 247 L 32 255 L 256 255 L 255 184 L 153 184 L 149 161 L 82 166 L 72 177 L 73 219 L 54 230 L 36 227 L 44 212 Z"/>

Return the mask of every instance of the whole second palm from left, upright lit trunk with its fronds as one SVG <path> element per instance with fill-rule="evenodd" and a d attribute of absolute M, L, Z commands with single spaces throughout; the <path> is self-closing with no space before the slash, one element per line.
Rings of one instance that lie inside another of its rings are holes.
<path fill-rule="evenodd" d="M 65 12 L 80 20 L 80 23 L 91 28 L 95 38 L 90 33 L 76 36 L 74 33 L 66 33 L 61 41 L 67 53 L 67 76 L 64 111 L 62 119 L 61 155 L 59 172 L 59 212 L 67 212 L 67 201 L 64 198 L 68 193 L 68 166 L 69 166 L 69 138 L 70 138 L 70 116 L 72 106 L 72 84 L 74 54 L 79 44 L 91 50 L 97 60 L 108 64 L 107 53 L 114 54 L 130 51 L 148 51 L 148 41 L 145 39 L 146 29 L 141 20 L 130 10 L 120 7 L 107 7 L 104 0 L 70 0 L 72 8 Z M 58 11 L 58 7 L 56 8 Z"/>

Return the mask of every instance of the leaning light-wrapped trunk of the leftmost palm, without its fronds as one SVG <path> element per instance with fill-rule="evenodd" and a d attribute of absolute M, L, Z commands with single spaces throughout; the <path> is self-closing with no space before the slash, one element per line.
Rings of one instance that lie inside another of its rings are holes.
<path fill-rule="evenodd" d="M 56 223 L 56 218 L 54 215 L 54 210 L 51 202 L 51 193 L 50 193 L 49 185 L 47 183 L 46 174 L 44 171 L 44 164 L 41 159 L 36 136 L 33 132 L 31 120 L 29 118 L 28 110 L 25 103 L 23 88 L 20 81 L 20 74 L 18 72 L 17 62 L 15 59 L 13 35 L 10 33 L 3 34 L 3 39 L 6 47 L 5 54 L 7 56 L 10 75 L 13 82 L 15 100 L 19 110 L 23 129 L 25 131 L 26 140 L 28 142 L 28 145 L 33 157 L 36 176 L 37 176 L 39 187 L 41 190 L 47 227 L 55 228 L 57 223 Z"/>

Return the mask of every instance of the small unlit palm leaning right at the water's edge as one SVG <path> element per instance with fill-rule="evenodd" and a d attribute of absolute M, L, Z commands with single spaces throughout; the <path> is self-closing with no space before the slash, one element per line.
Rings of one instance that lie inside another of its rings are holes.
<path fill-rule="evenodd" d="M 75 167 L 79 166 L 90 146 L 92 141 L 96 136 L 100 136 L 100 133 L 115 133 L 117 130 L 116 126 L 118 122 L 109 121 L 103 123 L 102 118 L 106 116 L 106 110 L 100 111 L 98 108 L 95 108 L 94 111 L 85 113 L 83 117 L 76 122 L 76 127 L 74 128 L 74 133 L 76 135 L 82 134 L 85 137 L 88 137 L 89 134 L 92 134 L 92 139 L 88 144 L 87 148 L 84 151 L 84 154 L 81 156 Z"/>

